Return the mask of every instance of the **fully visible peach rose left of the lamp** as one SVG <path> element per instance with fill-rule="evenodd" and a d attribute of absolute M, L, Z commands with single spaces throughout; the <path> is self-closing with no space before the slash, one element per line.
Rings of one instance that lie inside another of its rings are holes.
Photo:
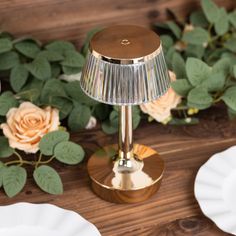
<path fill-rule="evenodd" d="M 58 130 L 60 125 L 57 109 L 49 106 L 41 109 L 30 102 L 11 108 L 6 117 L 7 123 L 0 127 L 9 145 L 27 153 L 36 153 L 41 138 L 48 132 Z"/>

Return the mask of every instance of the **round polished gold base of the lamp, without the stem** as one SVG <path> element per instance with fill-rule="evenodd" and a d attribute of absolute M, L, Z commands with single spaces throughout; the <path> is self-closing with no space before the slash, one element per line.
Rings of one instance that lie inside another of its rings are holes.
<path fill-rule="evenodd" d="M 102 199 L 116 203 L 141 202 L 160 187 L 164 161 L 150 147 L 134 144 L 139 168 L 132 173 L 117 170 L 118 146 L 108 145 L 95 152 L 88 161 L 88 173 L 94 192 Z"/>

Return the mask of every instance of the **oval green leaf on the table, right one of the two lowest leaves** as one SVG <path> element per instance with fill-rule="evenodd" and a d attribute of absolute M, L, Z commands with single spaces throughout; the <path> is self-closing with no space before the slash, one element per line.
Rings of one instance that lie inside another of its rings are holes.
<path fill-rule="evenodd" d="M 50 166 L 42 165 L 34 170 L 34 180 L 45 192 L 62 194 L 63 185 L 59 174 Z"/>

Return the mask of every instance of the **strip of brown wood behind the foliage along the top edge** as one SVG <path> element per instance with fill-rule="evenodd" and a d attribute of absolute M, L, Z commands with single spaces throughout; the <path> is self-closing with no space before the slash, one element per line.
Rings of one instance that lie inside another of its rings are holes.
<path fill-rule="evenodd" d="M 235 0 L 214 0 L 229 9 Z M 199 0 L 1 0 L 0 30 L 43 41 L 67 39 L 81 46 L 86 32 L 111 24 L 149 26 L 168 18 L 167 8 L 185 17 Z"/>

